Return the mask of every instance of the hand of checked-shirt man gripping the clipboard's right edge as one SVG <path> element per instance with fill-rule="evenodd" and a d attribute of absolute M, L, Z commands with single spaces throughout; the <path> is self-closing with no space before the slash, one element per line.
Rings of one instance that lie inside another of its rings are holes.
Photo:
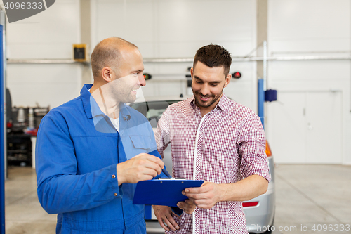
<path fill-rule="evenodd" d="M 211 209 L 217 202 L 222 200 L 225 193 L 223 187 L 217 183 L 205 181 L 201 187 L 185 188 L 182 194 L 189 197 L 197 207 Z"/>

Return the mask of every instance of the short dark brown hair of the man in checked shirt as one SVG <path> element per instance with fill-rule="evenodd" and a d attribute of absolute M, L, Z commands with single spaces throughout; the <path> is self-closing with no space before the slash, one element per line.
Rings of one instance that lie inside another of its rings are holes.
<path fill-rule="evenodd" d="M 232 56 L 230 56 L 230 53 L 223 46 L 210 44 L 202 46 L 197 50 L 192 66 L 195 67 L 197 62 L 204 63 L 207 67 L 223 66 L 224 74 L 227 76 L 230 65 L 232 65 Z"/>

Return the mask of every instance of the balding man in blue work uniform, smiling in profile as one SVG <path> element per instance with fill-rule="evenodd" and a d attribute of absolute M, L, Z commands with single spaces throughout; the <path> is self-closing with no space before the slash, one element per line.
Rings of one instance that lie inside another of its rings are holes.
<path fill-rule="evenodd" d="M 125 103 L 145 86 L 138 48 L 118 37 L 91 54 L 94 83 L 54 108 L 37 135 L 37 193 L 56 233 L 146 233 L 135 183 L 161 174 L 147 119 Z"/>

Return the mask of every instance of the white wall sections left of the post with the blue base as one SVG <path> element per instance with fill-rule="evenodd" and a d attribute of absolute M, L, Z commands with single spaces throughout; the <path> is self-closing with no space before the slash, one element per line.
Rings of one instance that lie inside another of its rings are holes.
<path fill-rule="evenodd" d="M 136 44 L 144 58 L 192 58 L 211 43 L 225 46 L 232 56 L 245 56 L 256 46 L 256 1 L 91 0 L 91 25 L 91 50 L 102 39 L 117 36 Z M 72 58 L 79 30 L 79 0 L 56 1 L 42 13 L 8 24 L 8 58 Z M 78 96 L 79 66 L 9 63 L 13 105 L 54 108 Z M 192 63 L 145 63 L 145 72 L 154 78 L 143 93 L 185 94 L 187 67 Z M 256 63 L 233 63 L 230 72 L 236 71 L 243 77 L 233 80 L 225 93 L 256 110 Z M 165 78 L 176 80 L 157 82 Z"/>

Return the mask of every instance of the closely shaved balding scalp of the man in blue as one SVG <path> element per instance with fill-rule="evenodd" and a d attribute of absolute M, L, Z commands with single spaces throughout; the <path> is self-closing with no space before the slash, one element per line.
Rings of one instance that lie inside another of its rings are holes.
<path fill-rule="evenodd" d="M 104 67 L 112 67 L 112 69 L 117 71 L 121 58 L 120 49 L 123 46 L 138 48 L 135 44 L 120 37 L 104 39 L 95 46 L 93 53 L 91 53 L 91 70 L 94 79 L 100 76 L 100 72 Z"/>

